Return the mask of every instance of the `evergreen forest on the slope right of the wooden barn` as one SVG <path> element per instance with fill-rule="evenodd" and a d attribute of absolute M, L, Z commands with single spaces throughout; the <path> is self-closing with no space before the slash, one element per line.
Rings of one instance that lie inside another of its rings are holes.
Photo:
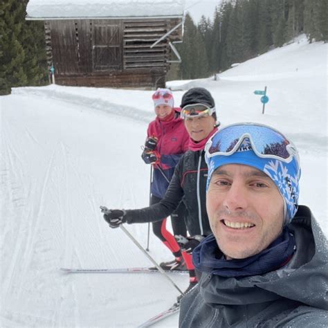
<path fill-rule="evenodd" d="M 309 42 L 328 41 L 327 0 L 224 0 L 212 19 L 198 24 L 186 15 L 182 62 L 170 80 L 206 78 L 305 33 Z"/>

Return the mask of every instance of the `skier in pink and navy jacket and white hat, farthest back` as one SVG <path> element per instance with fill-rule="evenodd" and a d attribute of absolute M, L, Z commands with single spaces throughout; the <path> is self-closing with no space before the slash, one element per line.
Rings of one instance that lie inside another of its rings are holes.
<path fill-rule="evenodd" d="M 174 167 L 188 150 L 189 135 L 180 108 L 174 108 L 174 99 L 170 89 L 157 89 L 152 95 L 156 118 L 149 123 L 143 161 L 153 165 L 153 181 L 151 186 L 150 205 L 163 198 L 174 173 Z M 179 207 L 171 215 L 174 235 L 186 235 L 184 220 L 185 206 L 181 201 Z M 180 217 L 180 219 L 179 219 Z M 170 249 L 174 260 L 161 263 L 165 270 L 185 270 L 181 250 L 174 236 L 166 229 L 166 218 L 152 223 L 154 234 Z"/>

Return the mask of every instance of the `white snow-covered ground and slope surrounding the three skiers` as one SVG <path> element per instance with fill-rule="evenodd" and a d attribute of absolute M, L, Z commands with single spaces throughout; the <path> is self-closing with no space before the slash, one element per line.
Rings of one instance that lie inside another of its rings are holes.
<path fill-rule="evenodd" d="M 327 44 L 304 38 L 219 75 L 170 82 L 205 86 L 226 125 L 257 121 L 284 131 L 302 161 L 300 203 L 327 223 Z M 262 115 L 255 89 L 268 87 Z M 152 91 L 62 86 L 14 89 L 1 106 L 1 327 L 136 327 L 170 307 L 177 291 L 152 275 L 67 275 L 59 268 L 149 265 L 99 206 L 147 206 L 140 159 Z M 127 226 L 145 246 L 147 225 Z M 170 253 L 153 236 L 150 254 Z M 173 277 L 184 289 L 188 278 Z M 156 327 L 177 327 L 172 316 Z"/>

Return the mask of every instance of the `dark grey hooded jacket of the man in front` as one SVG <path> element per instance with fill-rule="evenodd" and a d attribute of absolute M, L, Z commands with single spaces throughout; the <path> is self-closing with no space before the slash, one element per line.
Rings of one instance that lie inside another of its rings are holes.
<path fill-rule="evenodd" d="M 306 206 L 289 228 L 297 250 L 286 266 L 242 278 L 203 273 L 181 300 L 179 327 L 328 327 L 327 238 Z"/>

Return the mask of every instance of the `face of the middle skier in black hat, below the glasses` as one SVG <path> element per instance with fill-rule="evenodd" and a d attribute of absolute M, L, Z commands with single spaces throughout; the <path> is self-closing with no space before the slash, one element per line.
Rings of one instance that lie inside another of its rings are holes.
<path fill-rule="evenodd" d="M 215 118 L 213 116 L 195 116 L 185 118 L 185 128 L 190 138 L 194 141 L 205 139 L 215 126 Z"/>

